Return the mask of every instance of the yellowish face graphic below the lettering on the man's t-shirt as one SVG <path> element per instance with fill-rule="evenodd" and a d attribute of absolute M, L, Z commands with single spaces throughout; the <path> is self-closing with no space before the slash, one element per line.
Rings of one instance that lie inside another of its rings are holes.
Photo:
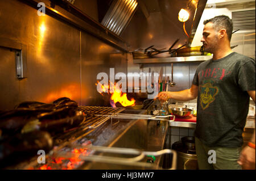
<path fill-rule="evenodd" d="M 203 110 L 209 107 L 210 103 L 214 102 L 215 96 L 218 94 L 218 87 L 213 86 L 212 80 L 205 80 L 200 89 L 200 104 Z"/>

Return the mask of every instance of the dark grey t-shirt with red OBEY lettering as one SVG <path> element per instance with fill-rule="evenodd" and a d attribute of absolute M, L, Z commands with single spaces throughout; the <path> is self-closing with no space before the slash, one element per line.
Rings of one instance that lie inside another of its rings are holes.
<path fill-rule="evenodd" d="M 240 147 L 249 110 L 247 91 L 255 90 L 255 60 L 236 52 L 199 65 L 195 136 L 205 145 Z"/>

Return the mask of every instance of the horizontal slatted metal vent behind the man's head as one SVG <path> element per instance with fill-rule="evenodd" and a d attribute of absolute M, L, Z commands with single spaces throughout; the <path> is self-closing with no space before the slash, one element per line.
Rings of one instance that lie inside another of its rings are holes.
<path fill-rule="evenodd" d="M 233 11 L 234 30 L 255 30 L 255 10 Z"/>

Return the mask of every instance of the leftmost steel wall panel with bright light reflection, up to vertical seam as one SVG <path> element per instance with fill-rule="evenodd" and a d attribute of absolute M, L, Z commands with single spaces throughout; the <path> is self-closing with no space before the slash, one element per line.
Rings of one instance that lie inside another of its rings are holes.
<path fill-rule="evenodd" d="M 27 78 L 21 80 L 15 78 L 14 57 L 1 51 L 0 71 L 5 79 L 0 95 L 6 95 L 0 108 L 13 108 L 25 100 L 52 102 L 60 96 L 79 101 L 79 31 L 49 16 L 38 16 L 35 9 L 18 1 L 1 1 L 0 11 L 0 36 L 27 45 Z M 8 87 L 13 89 L 8 92 Z"/>

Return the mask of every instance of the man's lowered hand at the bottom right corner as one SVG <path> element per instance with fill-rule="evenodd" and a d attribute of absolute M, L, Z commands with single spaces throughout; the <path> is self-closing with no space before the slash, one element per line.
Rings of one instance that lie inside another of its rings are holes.
<path fill-rule="evenodd" d="M 242 166 L 243 170 L 255 170 L 255 149 L 245 146 L 237 163 Z"/>

